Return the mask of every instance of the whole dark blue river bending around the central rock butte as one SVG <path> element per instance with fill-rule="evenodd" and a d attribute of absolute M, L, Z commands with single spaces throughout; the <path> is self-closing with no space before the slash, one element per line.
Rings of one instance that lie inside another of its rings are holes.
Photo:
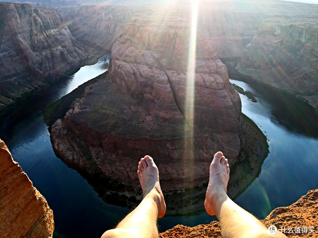
<path fill-rule="evenodd" d="M 103 202 L 83 177 L 55 156 L 43 121 L 43 109 L 47 105 L 103 73 L 106 69 L 101 66 L 107 61 L 109 55 L 95 65 L 82 67 L 66 82 L 33 96 L 0 127 L 0 138 L 8 146 L 14 160 L 52 208 L 54 233 L 60 237 L 100 237 L 128 213 L 128 208 Z M 258 94 L 248 84 L 235 80 L 231 82 L 256 96 L 257 102 L 251 102 L 240 95 L 242 112 L 267 136 L 270 151 L 259 177 L 235 202 L 263 219 L 274 208 L 288 206 L 308 190 L 318 188 L 318 140 L 297 130 L 302 128 L 301 120 L 286 122 L 286 118 L 282 120 L 279 116 L 273 116 L 277 110 L 268 98 Z M 282 114 L 289 112 L 288 108 L 281 111 Z M 302 117 L 312 115 L 305 114 Z M 14 123 L 10 123 L 12 121 Z M 286 126 L 289 124 L 293 126 Z M 215 216 L 202 213 L 196 216 L 163 217 L 158 220 L 158 225 L 160 231 L 165 231 L 176 224 L 195 226 L 208 224 L 212 220 L 215 220 Z"/>

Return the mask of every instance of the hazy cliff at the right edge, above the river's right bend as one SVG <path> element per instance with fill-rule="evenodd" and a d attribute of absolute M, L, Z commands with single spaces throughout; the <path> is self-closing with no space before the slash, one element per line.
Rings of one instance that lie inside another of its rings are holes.
<path fill-rule="evenodd" d="M 236 69 L 318 107 L 317 39 L 316 18 L 269 18 Z"/>

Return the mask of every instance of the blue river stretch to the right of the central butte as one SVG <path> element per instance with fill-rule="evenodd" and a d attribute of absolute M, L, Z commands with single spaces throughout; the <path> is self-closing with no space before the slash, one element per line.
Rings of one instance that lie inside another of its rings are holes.
<path fill-rule="evenodd" d="M 258 94 L 246 83 L 236 80 L 231 82 L 256 95 L 258 102 L 251 102 L 240 95 L 242 112 L 256 122 L 267 136 L 270 151 L 259 177 L 235 202 L 263 219 L 274 208 L 288 206 L 305 195 L 308 190 L 318 188 L 318 139 L 295 132 L 290 126 L 287 129 L 280 123 L 280 119 L 271 114 L 274 106 L 267 97 Z M 277 100 L 275 102 L 279 103 Z M 281 108 L 281 114 L 288 112 L 289 108 Z M 306 113 L 308 114 L 297 116 L 298 121 L 289 122 L 300 127 L 301 123 L 310 126 L 306 117 L 312 115 L 310 111 Z M 296 117 L 293 115 L 289 118 Z M 316 125 L 311 126 L 315 128 Z"/>

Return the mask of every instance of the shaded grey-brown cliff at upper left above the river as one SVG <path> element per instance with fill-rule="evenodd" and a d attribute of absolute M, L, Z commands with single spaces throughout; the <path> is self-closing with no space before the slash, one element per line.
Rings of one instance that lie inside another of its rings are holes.
<path fill-rule="evenodd" d="M 0 116 L 87 57 L 53 8 L 1 2 L 0 29 Z"/>

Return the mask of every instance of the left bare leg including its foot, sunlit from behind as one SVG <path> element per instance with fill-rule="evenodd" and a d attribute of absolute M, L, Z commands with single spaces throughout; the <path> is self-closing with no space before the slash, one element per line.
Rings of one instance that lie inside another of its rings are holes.
<path fill-rule="evenodd" d="M 141 203 L 101 238 L 158 237 L 157 218 L 165 214 L 166 204 L 159 184 L 158 168 L 150 156 L 140 160 L 137 174 L 143 192 Z"/>

